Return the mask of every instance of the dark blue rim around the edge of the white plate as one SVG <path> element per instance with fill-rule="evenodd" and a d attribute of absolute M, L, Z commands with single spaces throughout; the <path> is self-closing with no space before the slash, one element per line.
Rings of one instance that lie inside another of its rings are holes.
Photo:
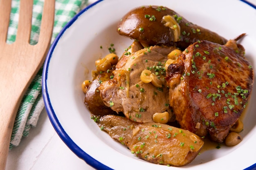
<path fill-rule="evenodd" d="M 98 0 L 97 2 L 94 2 L 85 9 L 81 10 L 79 13 L 77 13 L 70 22 L 68 22 L 61 32 L 58 34 L 54 42 L 52 43 L 52 46 L 49 49 L 49 52 L 47 54 L 47 57 L 45 59 L 45 64 L 43 67 L 43 78 L 42 78 L 42 92 L 43 92 L 43 100 L 46 108 L 47 115 L 52 123 L 52 126 L 58 132 L 59 137 L 63 140 L 63 142 L 76 154 L 79 158 L 83 159 L 88 165 L 92 166 L 93 168 L 96 168 L 97 170 L 113 170 L 112 168 L 109 168 L 108 166 L 104 165 L 103 163 L 97 161 L 96 159 L 92 158 L 90 155 L 88 155 L 86 152 L 84 152 L 78 145 L 74 143 L 74 141 L 69 137 L 69 135 L 65 132 L 63 127 L 61 126 L 60 122 L 58 121 L 58 118 L 56 114 L 54 113 L 54 109 L 52 108 L 52 104 L 49 99 L 49 94 L 47 93 L 47 71 L 49 67 L 49 61 L 52 57 L 52 53 L 55 49 L 56 44 L 58 43 L 58 40 L 60 40 L 63 33 L 79 18 L 80 15 L 82 15 L 85 11 L 93 7 L 95 4 L 101 2 L 103 0 Z M 248 4 L 249 6 L 256 9 L 256 6 L 247 0 L 240 0 L 241 2 L 244 2 Z M 245 170 L 256 170 L 256 163 L 252 166 L 249 166 Z"/>

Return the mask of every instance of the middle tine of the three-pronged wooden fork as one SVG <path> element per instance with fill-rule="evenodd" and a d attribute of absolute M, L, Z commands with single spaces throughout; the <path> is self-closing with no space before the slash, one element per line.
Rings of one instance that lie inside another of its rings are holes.
<path fill-rule="evenodd" d="M 16 41 L 29 43 L 31 33 L 33 0 L 20 0 L 20 13 Z"/>

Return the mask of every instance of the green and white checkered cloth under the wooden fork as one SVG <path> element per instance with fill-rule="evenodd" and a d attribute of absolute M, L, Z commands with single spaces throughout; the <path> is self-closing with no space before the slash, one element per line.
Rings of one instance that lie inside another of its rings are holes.
<path fill-rule="evenodd" d="M 65 26 L 65 24 L 67 24 L 67 22 L 69 22 L 74 15 L 76 15 L 76 13 L 85 7 L 87 2 L 88 0 L 56 0 L 52 42 L 63 26 Z M 12 0 L 7 43 L 14 42 L 16 38 L 19 18 L 19 4 L 19 0 Z M 43 4 L 44 0 L 34 0 L 30 40 L 31 44 L 36 44 L 38 41 Z M 44 108 L 41 82 L 42 72 L 43 67 L 37 73 L 22 99 L 13 126 L 9 149 L 13 148 L 13 146 L 18 146 L 21 138 L 29 135 L 29 129 L 36 126 L 39 115 Z"/>

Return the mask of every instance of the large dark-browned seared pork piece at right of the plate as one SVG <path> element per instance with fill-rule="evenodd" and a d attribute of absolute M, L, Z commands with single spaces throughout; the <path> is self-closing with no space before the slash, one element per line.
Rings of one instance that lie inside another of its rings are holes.
<path fill-rule="evenodd" d="M 170 105 L 181 128 L 222 143 L 249 101 L 251 63 L 225 45 L 190 45 L 168 66 Z"/>

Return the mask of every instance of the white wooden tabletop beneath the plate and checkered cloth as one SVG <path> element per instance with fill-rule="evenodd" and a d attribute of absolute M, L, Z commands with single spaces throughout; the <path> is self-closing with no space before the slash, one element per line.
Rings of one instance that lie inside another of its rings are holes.
<path fill-rule="evenodd" d="M 96 0 L 89 0 L 90 3 Z M 256 5 L 256 0 L 248 0 Z M 28 137 L 8 155 L 6 170 L 95 170 L 79 159 L 61 140 L 45 109 Z"/>

